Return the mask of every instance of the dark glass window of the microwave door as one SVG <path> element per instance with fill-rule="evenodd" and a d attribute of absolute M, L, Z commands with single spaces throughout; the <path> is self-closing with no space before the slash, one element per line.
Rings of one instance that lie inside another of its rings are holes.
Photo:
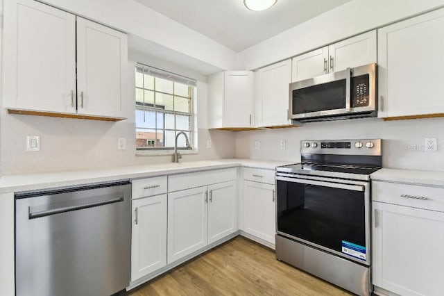
<path fill-rule="evenodd" d="M 346 80 L 293 90 L 293 114 L 345 108 Z"/>

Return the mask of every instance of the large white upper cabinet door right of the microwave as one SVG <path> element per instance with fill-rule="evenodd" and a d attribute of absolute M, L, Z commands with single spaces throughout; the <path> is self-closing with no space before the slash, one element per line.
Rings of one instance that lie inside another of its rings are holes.
<path fill-rule="evenodd" d="M 378 30 L 378 117 L 444 113 L 444 10 Z"/>

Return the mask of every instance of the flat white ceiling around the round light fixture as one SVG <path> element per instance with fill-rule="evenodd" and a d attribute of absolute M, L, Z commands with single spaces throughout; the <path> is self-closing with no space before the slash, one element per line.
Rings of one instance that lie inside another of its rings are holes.
<path fill-rule="evenodd" d="M 243 0 L 136 0 L 236 52 L 350 0 L 278 0 L 251 11 Z"/>

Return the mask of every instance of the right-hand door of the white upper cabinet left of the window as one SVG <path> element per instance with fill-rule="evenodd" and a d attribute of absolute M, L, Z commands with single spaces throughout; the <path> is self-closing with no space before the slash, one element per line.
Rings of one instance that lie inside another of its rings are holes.
<path fill-rule="evenodd" d="M 126 34 L 77 17 L 77 112 L 124 117 Z"/>

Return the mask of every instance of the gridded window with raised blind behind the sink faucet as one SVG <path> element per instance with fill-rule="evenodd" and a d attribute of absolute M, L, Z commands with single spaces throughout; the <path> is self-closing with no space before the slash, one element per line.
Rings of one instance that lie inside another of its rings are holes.
<path fill-rule="evenodd" d="M 193 143 L 196 81 L 137 64 L 135 82 L 136 148 L 173 149 L 180 131 Z M 186 149 L 185 137 L 178 138 L 178 149 Z"/>

